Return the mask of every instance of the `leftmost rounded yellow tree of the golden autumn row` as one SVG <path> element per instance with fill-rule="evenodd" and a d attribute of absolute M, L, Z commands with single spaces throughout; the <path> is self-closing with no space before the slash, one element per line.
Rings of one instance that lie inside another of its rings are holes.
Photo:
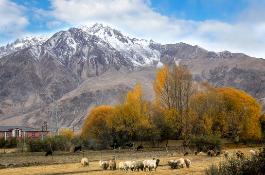
<path fill-rule="evenodd" d="M 82 127 L 83 136 L 103 140 L 103 138 L 108 134 L 109 129 L 106 124 L 106 120 L 111 115 L 112 111 L 113 107 L 106 105 L 92 108 L 85 118 L 85 122 Z"/>

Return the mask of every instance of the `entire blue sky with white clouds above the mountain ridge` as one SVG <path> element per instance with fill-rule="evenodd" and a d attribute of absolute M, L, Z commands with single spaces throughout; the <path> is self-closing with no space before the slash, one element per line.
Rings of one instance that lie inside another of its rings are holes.
<path fill-rule="evenodd" d="M 265 58 L 265 0 L 0 0 L 0 46 L 103 23 L 131 38 Z"/>

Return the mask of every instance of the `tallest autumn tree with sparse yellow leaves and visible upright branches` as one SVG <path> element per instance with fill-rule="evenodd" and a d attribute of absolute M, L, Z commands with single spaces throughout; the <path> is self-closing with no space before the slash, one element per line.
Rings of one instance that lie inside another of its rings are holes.
<path fill-rule="evenodd" d="M 189 112 L 189 102 L 196 90 L 191 72 L 182 63 L 174 62 L 171 69 L 167 63 L 157 71 L 153 82 L 155 102 L 164 113 L 164 120 L 171 124 L 180 139 L 183 119 Z"/>

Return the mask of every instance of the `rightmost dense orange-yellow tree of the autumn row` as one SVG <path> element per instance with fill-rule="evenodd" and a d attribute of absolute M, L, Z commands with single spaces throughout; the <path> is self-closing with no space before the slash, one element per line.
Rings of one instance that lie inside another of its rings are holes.
<path fill-rule="evenodd" d="M 227 127 L 223 135 L 235 139 L 261 138 L 261 105 L 250 95 L 234 88 L 217 88 L 224 102 Z"/>

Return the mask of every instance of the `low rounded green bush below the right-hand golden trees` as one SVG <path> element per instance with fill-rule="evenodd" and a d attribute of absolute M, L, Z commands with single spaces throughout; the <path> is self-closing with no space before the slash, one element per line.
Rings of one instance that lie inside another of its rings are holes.
<path fill-rule="evenodd" d="M 197 151 L 213 150 L 217 152 L 222 149 L 223 143 L 218 136 L 201 135 L 190 138 L 187 146 Z"/>

